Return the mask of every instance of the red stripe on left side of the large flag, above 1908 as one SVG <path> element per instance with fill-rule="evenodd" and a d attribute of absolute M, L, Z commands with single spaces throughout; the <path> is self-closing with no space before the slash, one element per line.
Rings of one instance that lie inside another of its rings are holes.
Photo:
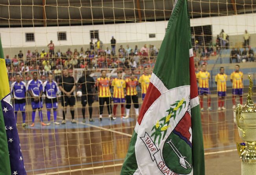
<path fill-rule="evenodd" d="M 160 97 L 161 93 L 159 90 L 150 82 L 149 87 L 147 89 L 146 96 L 144 98 L 143 104 L 140 109 L 140 114 L 138 117 L 138 124 L 141 123 L 145 113 L 149 109 L 149 107 L 154 103 L 154 101 L 157 100 L 158 97 Z"/>

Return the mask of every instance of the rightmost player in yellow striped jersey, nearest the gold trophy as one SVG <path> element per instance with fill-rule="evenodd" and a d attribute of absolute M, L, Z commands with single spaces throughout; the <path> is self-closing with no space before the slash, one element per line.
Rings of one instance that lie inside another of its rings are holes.
<path fill-rule="evenodd" d="M 240 104 L 243 104 L 243 72 L 239 69 L 240 66 L 236 65 L 235 71 L 230 75 L 230 81 L 232 82 L 233 109 L 236 108 L 236 95 L 240 97 Z"/>

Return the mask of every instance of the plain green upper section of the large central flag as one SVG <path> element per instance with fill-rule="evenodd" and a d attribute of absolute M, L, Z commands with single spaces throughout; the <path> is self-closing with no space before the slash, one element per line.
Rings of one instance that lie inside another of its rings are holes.
<path fill-rule="evenodd" d="M 191 41 L 189 41 L 190 33 L 188 32 L 188 29 L 190 30 L 189 20 L 187 4 L 184 0 L 178 0 L 168 22 L 166 35 L 162 41 L 153 70 L 153 73 L 162 80 L 168 89 L 190 85 L 188 55 Z"/>

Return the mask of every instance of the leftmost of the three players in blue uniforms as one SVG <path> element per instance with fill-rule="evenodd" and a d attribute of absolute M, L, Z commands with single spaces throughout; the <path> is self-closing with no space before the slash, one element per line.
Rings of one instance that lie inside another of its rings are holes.
<path fill-rule="evenodd" d="M 22 114 L 22 126 L 26 126 L 26 83 L 21 81 L 20 74 L 16 74 L 16 81 L 11 84 L 11 93 L 14 98 L 14 113 L 17 123 L 17 114 L 18 111 L 21 111 Z"/>

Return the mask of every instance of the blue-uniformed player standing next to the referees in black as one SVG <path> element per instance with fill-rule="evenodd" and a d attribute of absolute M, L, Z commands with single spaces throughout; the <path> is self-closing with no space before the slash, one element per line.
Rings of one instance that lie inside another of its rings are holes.
<path fill-rule="evenodd" d="M 45 103 L 47 109 L 47 118 L 48 123 L 47 125 L 51 124 L 51 109 L 53 109 L 53 120 L 54 124 L 59 125 L 57 122 L 57 108 L 58 108 L 58 101 L 57 101 L 57 92 L 59 91 L 58 85 L 56 81 L 53 81 L 53 75 L 48 75 L 48 80 L 44 81 L 43 83 L 43 92 L 45 93 Z"/>

